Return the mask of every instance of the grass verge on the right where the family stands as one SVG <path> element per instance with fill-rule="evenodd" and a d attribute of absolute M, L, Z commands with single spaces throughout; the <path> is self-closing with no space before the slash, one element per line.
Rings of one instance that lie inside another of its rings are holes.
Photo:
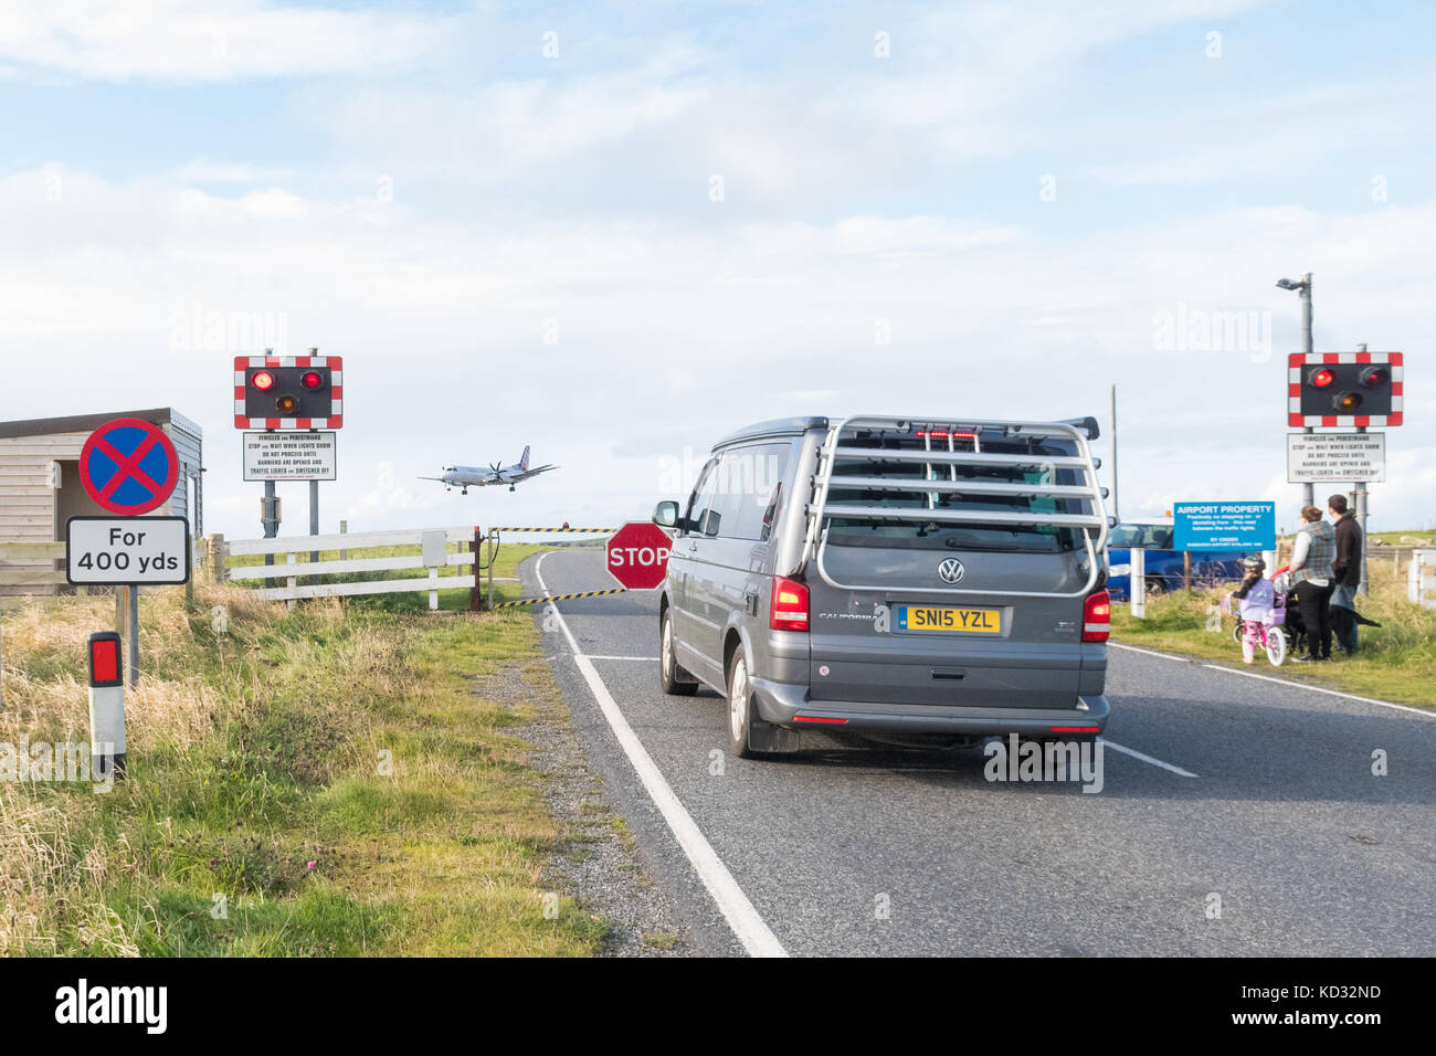
<path fill-rule="evenodd" d="M 1376 568 L 1373 565 L 1373 568 Z M 1241 647 L 1232 641 L 1234 619 L 1221 616 L 1222 596 L 1235 586 L 1212 590 L 1178 590 L 1147 602 L 1147 618 L 1133 619 L 1126 602 L 1111 606 L 1113 641 L 1150 649 L 1241 665 Z M 1363 615 L 1381 624 L 1361 628 L 1356 657 L 1337 655 L 1330 664 L 1284 664 L 1281 677 L 1310 681 L 1366 697 L 1436 707 L 1436 612 L 1406 601 L 1406 580 L 1371 576 L 1370 598 L 1358 598 Z M 1265 658 L 1259 668 L 1277 674 Z"/>

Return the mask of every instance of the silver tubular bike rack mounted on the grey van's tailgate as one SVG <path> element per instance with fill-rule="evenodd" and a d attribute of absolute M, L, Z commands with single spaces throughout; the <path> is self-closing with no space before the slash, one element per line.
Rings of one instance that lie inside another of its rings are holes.
<path fill-rule="evenodd" d="M 961 427 L 946 422 L 961 422 Z M 859 447 L 852 441 L 856 430 L 895 430 L 909 432 L 920 430 L 923 450 L 896 450 Z M 933 432 L 946 437 L 946 447 L 932 447 Z M 964 441 L 971 441 L 971 451 L 958 451 L 954 444 L 954 434 L 958 432 Z M 984 434 L 999 434 L 1004 440 L 1061 440 L 1070 443 L 1074 455 L 1047 455 L 1041 453 L 997 453 L 982 450 Z M 1063 590 L 975 590 L 964 588 L 903 588 L 905 593 L 923 595 L 1021 595 L 1028 598 L 1083 598 L 1091 593 L 1097 585 L 1101 570 L 1099 555 L 1107 545 L 1107 529 L 1111 519 L 1103 503 L 1106 488 L 1097 484 L 1097 467 L 1101 464 L 1091 457 L 1087 447 L 1088 437 L 1097 432 L 1096 422 L 1090 418 L 1077 418 L 1063 422 L 1028 422 L 1028 421 L 982 421 L 971 418 L 951 417 L 890 417 L 860 414 L 829 425 L 827 438 L 817 455 L 817 470 L 813 474 L 813 500 L 807 507 L 807 534 L 803 542 L 801 566 L 811 560 L 819 575 L 829 586 L 839 590 L 890 590 L 892 585 L 880 583 L 840 583 L 827 570 L 827 534 L 833 517 L 849 520 L 899 522 L 909 524 L 989 524 L 1010 527 L 1053 526 L 1080 529 L 1083 545 L 1087 552 L 1087 583 L 1073 592 Z M 844 435 L 846 434 L 846 435 Z M 846 443 L 844 443 L 846 441 Z M 910 477 L 877 477 L 853 476 L 840 477 L 839 487 L 844 491 L 870 491 L 875 500 L 880 501 L 883 493 L 926 493 L 928 504 L 922 507 L 892 507 L 866 506 L 863 503 L 830 503 L 829 496 L 833 488 L 833 471 L 839 463 L 915 463 L 926 467 L 922 478 Z M 962 480 L 958 476 L 959 466 L 989 466 L 1038 471 L 1040 480 L 1024 483 L 1001 483 L 989 480 Z M 946 468 L 945 476 L 939 476 Z M 1071 470 L 1078 476 L 1078 484 L 1053 483 L 1058 470 Z M 1007 497 L 1040 497 L 1060 501 L 1078 501 L 1086 504 L 1081 513 L 1034 513 L 1030 510 L 939 510 L 936 499 L 939 494 L 952 496 L 1007 496 Z"/>

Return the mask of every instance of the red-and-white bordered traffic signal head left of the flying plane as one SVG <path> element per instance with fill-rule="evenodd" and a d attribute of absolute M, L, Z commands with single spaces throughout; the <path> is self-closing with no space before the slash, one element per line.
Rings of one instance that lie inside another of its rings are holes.
<path fill-rule="evenodd" d="M 234 424 L 241 430 L 339 428 L 343 361 L 337 356 L 241 356 L 234 363 Z"/>

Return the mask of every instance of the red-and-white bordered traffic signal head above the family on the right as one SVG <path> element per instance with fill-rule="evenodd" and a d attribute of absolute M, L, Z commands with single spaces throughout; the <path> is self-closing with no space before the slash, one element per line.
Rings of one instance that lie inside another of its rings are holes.
<path fill-rule="evenodd" d="M 1287 404 L 1291 425 L 1400 425 L 1402 353 L 1292 353 Z"/>

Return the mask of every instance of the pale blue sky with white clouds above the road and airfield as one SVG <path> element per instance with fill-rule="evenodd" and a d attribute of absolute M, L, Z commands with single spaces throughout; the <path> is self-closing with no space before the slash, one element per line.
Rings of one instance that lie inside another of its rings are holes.
<path fill-rule="evenodd" d="M 1290 527 L 1311 272 L 1317 351 L 1407 356 L 1370 527 L 1432 527 L 1433 40 L 1420 3 L 6 0 L 0 420 L 174 407 L 205 529 L 254 537 L 233 359 L 317 346 L 325 530 L 607 527 L 800 414 L 1094 415 L 1110 483 L 1116 384 L 1123 517 Z M 418 480 L 526 444 L 561 468 Z"/>

